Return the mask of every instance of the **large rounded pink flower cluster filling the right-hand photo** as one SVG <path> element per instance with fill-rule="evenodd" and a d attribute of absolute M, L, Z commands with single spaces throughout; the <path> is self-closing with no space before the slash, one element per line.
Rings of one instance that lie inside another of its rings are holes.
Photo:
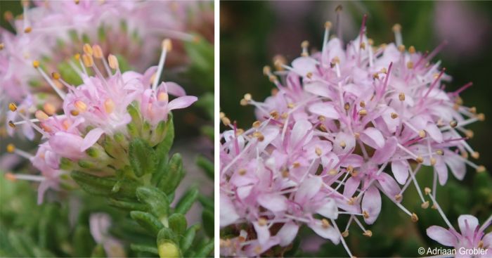
<path fill-rule="evenodd" d="M 256 107 L 257 121 L 247 130 L 221 113 L 230 130 L 221 134 L 221 254 L 256 256 L 280 245 L 287 250 L 299 231 L 309 226 L 332 243 L 342 242 L 352 224 L 365 236 L 381 211 L 382 195 L 413 221 L 418 217 L 401 205 L 403 193 L 415 185 L 422 208 L 429 207 L 415 179 L 421 167 L 432 167 L 433 182 L 425 193 L 436 197 L 437 182 L 448 172 L 463 179 L 468 159 L 479 153 L 467 143 L 467 124 L 484 120 L 476 108 L 463 105 L 460 92 L 445 91 L 441 63 L 431 63 L 444 46 L 420 53 L 403 45 L 401 27 L 395 42 L 375 46 L 365 35 L 346 46 L 330 38 L 325 23 L 321 52 L 309 53 L 264 74 L 276 85 L 264 102 L 250 94 L 241 105 Z M 434 202 L 432 207 L 436 207 Z M 349 216 L 339 229 L 336 219 Z"/>

